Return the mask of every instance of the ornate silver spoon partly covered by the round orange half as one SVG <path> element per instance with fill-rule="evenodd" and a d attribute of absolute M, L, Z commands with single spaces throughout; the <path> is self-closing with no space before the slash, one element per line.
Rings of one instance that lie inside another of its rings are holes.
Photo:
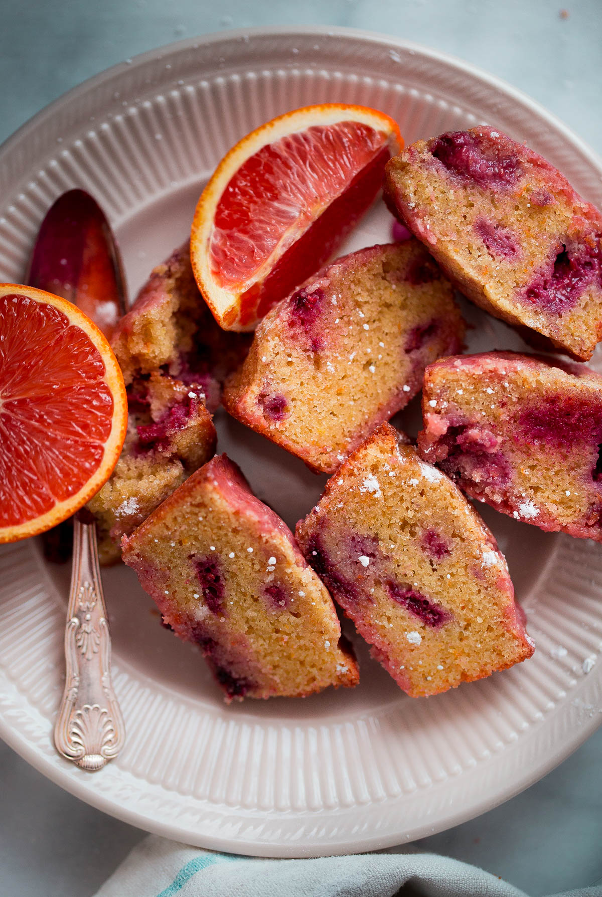
<path fill-rule="evenodd" d="M 27 283 L 73 302 L 110 338 L 127 310 L 127 290 L 109 222 L 92 196 L 69 190 L 42 222 Z M 55 723 L 58 753 L 97 771 L 124 745 L 125 727 L 110 675 L 110 633 L 102 594 L 96 525 L 74 516 L 74 553 L 65 627 L 65 691 Z"/>

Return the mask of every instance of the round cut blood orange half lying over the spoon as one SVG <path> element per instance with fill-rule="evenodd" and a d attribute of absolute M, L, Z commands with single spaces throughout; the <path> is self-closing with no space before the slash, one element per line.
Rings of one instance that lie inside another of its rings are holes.
<path fill-rule="evenodd" d="M 123 377 L 99 328 L 49 292 L 0 284 L 0 542 L 81 508 L 126 428 Z"/>

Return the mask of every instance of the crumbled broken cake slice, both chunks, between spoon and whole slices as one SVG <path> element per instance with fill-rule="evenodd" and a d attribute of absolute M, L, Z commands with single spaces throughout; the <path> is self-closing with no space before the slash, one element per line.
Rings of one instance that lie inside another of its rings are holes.
<path fill-rule="evenodd" d="M 209 412 L 249 336 L 217 326 L 185 243 L 153 269 L 111 342 L 126 381 L 129 420 L 118 465 L 88 506 L 103 564 L 118 561 L 121 536 L 214 455 Z"/>

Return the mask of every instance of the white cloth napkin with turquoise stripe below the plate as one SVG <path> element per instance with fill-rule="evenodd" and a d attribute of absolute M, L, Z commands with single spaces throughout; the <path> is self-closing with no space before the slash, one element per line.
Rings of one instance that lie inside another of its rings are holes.
<path fill-rule="evenodd" d="M 432 853 L 258 859 L 199 850 L 156 835 L 132 850 L 95 897 L 393 897 L 397 893 L 527 897 L 483 869 Z M 602 897 L 602 885 L 554 897 Z"/>

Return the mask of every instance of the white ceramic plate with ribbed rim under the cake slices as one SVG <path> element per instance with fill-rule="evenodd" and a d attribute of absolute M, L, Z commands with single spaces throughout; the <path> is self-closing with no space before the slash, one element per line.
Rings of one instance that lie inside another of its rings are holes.
<path fill-rule="evenodd" d="M 262 30 L 185 41 L 92 79 L 0 150 L 0 279 L 19 282 L 48 205 L 84 187 L 115 225 L 132 292 L 185 238 L 231 144 L 322 101 L 397 118 L 406 142 L 486 121 L 526 140 L 602 205 L 602 165 L 544 109 L 441 54 L 350 30 Z M 375 206 L 346 248 L 387 240 Z M 473 351 L 519 348 L 473 307 Z M 406 415 L 406 425 L 410 425 Z M 325 477 L 218 414 L 221 450 L 290 525 Z M 403 423 L 404 421 L 402 421 Z M 40 771 L 129 823 L 204 847 L 295 857 L 374 849 L 462 822 L 525 788 L 602 722 L 602 548 L 483 508 L 537 641 L 502 674 L 413 701 L 358 645 L 362 684 L 305 701 L 226 707 L 203 659 L 159 625 L 125 567 L 107 570 L 114 679 L 127 722 L 91 775 L 51 744 L 63 687 L 68 570 L 35 541 L 0 552 L 0 732 Z M 590 658 L 590 659 L 588 659 Z M 585 661 L 585 666 L 584 666 Z"/>

